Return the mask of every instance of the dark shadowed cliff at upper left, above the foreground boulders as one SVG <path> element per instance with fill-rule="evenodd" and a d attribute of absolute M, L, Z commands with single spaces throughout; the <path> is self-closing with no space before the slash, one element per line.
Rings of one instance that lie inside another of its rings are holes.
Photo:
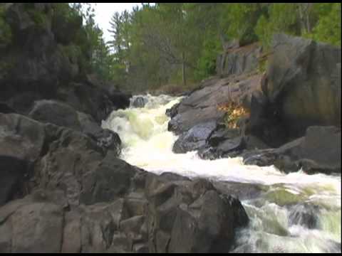
<path fill-rule="evenodd" d="M 48 3 L 14 3 L 4 9 L 12 37 L 0 46 L 0 101 L 11 112 L 28 114 L 36 100 L 59 100 L 100 122 L 112 110 L 129 106 L 131 95 L 86 75 L 80 61 L 68 55 L 77 45 L 76 33 L 84 32 L 81 16 L 63 20 Z"/>

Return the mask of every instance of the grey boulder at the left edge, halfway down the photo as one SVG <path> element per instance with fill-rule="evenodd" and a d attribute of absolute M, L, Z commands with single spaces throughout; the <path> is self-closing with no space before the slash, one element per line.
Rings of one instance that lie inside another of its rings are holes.
<path fill-rule="evenodd" d="M 0 114 L 0 206 L 28 193 L 26 184 L 45 139 L 43 124 L 19 114 Z"/>

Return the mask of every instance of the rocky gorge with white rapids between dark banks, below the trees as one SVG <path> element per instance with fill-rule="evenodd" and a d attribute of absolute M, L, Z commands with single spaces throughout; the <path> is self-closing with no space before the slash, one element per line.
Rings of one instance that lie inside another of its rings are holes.
<path fill-rule="evenodd" d="M 194 88 L 132 93 L 57 7 L 0 6 L 0 252 L 341 253 L 341 46 L 233 41 Z"/>

